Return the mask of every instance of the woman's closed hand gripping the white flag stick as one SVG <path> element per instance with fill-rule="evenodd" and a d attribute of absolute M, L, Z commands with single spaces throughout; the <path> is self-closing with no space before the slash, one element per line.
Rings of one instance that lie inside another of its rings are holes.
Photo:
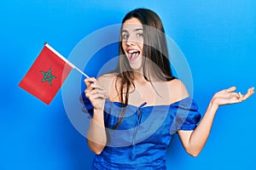
<path fill-rule="evenodd" d="M 108 96 L 106 91 L 97 83 L 94 77 L 85 78 L 84 82 L 87 87 L 84 90 L 85 96 L 90 99 L 90 103 L 94 109 L 103 111 L 105 100 Z"/>

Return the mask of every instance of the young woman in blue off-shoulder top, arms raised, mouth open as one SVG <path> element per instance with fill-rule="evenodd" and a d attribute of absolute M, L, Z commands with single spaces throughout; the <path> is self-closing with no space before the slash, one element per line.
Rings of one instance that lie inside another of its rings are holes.
<path fill-rule="evenodd" d="M 198 156 L 218 106 L 254 93 L 254 88 L 245 95 L 235 87 L 224 89 L 213 95 L 201 119 L 183 82 L 172 76 L 161 20 L 146 8 L 125 15 L 117 70 L 84 82 L 92 116 L 88 144 L 96 153 L 92 169 L 166 169 L 172 133 L 189 155 Z"/>

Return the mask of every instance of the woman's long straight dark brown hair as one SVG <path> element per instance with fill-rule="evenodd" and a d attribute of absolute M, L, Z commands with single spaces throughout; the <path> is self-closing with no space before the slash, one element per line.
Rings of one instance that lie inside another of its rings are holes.
<path fill-rule="evenodd" d="M 125 104 L 125 106 L 128 105 L 129 91 L 131 87 L 135 88 L 135 86 L 133 83 L 133 71 L 128 59 L 124 57 L 125 51 L 122 48 L 121 31 L 125 21 L 130 20 L 131 18 L 137 18 L 143 25 L 143 77 L 145 80 L 151 82 L 151 73 L 152 69 L 154 69 L 152 63 L 158 67 L 158 69 L 154 70 L 154 76 L 160 80 L 170 81 L 175 78 L 172 76 L 165 30 L 160 17 L 148 8 L 137 8 L 132 10 L 125 15 L 125 18 L 122 21 L 119 35 L 119 65 L 116 70 L 120 80 L 119 88 L 117 87 L 117 83 L 116 88 L 119 89 L 120 102 Z M 119 126 L 124 116 L 125 107 L 119 117 L 119 122 L 113 127 L 114 129 Z"/>

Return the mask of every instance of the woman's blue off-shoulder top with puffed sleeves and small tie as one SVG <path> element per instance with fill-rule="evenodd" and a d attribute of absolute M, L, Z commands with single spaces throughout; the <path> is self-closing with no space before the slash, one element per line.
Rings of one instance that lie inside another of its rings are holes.
<path fill-rule="evenodd" d="M 89 99 L 84 105 L 90 116 L 93 106 Z M 125 116 L 119 127 L 120 113 Z M 106 99 L 104 122 L 108 143 L 96 155 L 91 169 L 166 169 L 166 150 L 177 130 L 194 130 L 201 120 L 198 105 L 188 97 L 171 105 L 140 106 L 121 104 Z"/>

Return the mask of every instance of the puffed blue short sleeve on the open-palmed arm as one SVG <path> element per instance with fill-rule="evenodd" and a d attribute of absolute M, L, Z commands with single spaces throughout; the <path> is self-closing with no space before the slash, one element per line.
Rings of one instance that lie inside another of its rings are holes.
<path fill-rule="evenodd" d="M 198 105 L 195 100 L 188 97 L 172 105 L 176 111 L 173 125 L 177 130 L 194 130 L 201 120 L 201 114 L 198 111 Z"/>

